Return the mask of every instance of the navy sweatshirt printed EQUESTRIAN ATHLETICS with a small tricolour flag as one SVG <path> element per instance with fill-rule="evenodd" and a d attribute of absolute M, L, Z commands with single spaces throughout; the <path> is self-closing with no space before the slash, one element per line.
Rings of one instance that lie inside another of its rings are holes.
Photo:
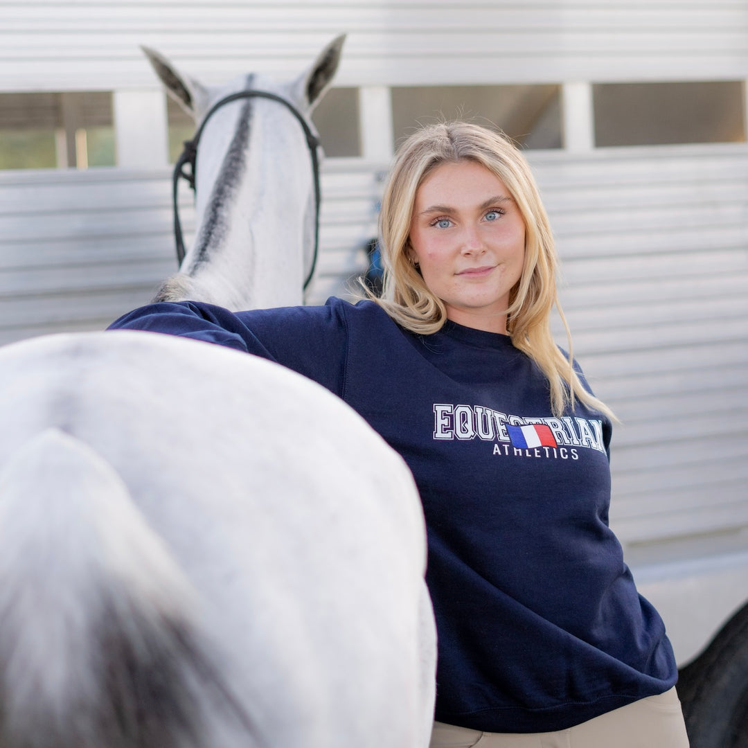
<path fill-rule="evenodd" d="M 408 462 L 429 536 L 435 718 L 565 729 L 672 687 L 663 622 L 608 527 L 610 422 L 554 417 L 509 337 L 402 330 L 370 301 L 231 313 L 153 304 L 114 322 L 277 361 L 355 408 Z"/>

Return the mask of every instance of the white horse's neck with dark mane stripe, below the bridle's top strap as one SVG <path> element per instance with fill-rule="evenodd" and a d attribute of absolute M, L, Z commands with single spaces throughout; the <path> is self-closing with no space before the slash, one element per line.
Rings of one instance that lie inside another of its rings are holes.
<path fill-rule="evenodd" d="M 277 102 L 231 106 L 203 134 L 211 145 L 201 144 L 197 229 L 183 273 L 194 296 L 230 309 L 301 304 L 313 209 L 301 127 Z"/>

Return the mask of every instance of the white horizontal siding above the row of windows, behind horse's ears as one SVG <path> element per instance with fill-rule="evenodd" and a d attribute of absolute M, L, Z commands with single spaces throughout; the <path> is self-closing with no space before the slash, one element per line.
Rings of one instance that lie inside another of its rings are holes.
<path fill-rule="evenodd" d="M 153 85 L 141 44 L 207 82 L 288 76 L 340 33 L 337 85 L 748 78 L 742 0 L 30 0 L 0 5 L 0 91 Z"/>

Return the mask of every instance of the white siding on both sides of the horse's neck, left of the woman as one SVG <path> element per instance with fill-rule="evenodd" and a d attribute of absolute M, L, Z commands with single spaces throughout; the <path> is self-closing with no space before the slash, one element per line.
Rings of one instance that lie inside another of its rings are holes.
<path fill-rule="evenodd" d="M 376 233 L 381 171 L 325 165 L 310 303 L 344 294 Z M 180 193 L 187 239 L 192 198 Z M 176 272 L 168 171 L 0 172 L 0 344 L 60 329 L 99 329 L 147 303 Z"/>

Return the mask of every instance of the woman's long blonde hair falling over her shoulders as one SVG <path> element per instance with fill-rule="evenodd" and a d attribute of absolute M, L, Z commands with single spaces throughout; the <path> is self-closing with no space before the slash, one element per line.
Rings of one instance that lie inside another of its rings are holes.
<path fill-rule="evenodd" d="M 509 294 L 506 329 L 512 344 L 535 361 L 550 384 L 551 410 L 560 416 L 574 399 L 613 417 L 612 411 L 584 387 L 574 372 L 571 333 L 556 289 L 558 258 L 548 215 L 530 165 L 500 132 L 467 122 L 423 127 L 400 147 L 390 171 L 379 215 L 384 288 L 375 299 L 403 328 L 432 334 L 447 321 L 444 302 L 435 296 L 408 254 L 408 232 L 416 192 L 444 163 L 473 161 L 498 177 L 518 206 L 525 225 L 524 268 Z M 568 338 L 568 358 L 551 336 L 556 307 Z"/>

